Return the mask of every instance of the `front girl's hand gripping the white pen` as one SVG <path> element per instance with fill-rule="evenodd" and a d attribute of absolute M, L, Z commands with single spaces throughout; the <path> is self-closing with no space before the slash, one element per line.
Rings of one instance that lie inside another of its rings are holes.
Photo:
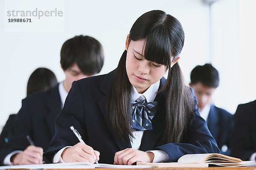
<path fill-rule="evenodd" d="M 93 150 L 87 144 L 77 143 L 73 147 L 66 148 L 61 158 L 64 162 L 90 162 L 94 163 L 95 160 L 99 161 L 99 151 Z"/>

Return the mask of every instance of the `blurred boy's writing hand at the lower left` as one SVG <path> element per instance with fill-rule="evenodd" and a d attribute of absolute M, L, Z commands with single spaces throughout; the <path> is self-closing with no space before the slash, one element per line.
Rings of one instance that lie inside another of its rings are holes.
<path fill-rule="evenodd" d="M 23 153 L 16 153 L 11 157 L 14 164 L 42 164 L 44 150 L 41 147 L 29 145 Z"/>

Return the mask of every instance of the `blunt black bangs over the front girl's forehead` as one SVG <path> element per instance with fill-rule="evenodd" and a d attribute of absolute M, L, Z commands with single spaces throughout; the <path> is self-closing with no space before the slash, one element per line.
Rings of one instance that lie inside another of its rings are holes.
<path fill-rule="evenodd" d="M 151 30 L 145 38 L 143 50 L 145 59 L 169 68 L 172 57 L 171 40 L 168 30 L 163 24 Z"/>

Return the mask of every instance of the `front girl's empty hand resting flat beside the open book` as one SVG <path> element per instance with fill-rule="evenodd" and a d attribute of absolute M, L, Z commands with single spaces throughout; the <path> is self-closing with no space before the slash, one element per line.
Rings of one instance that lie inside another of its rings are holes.
<path fill-rule="evenodd" d="M 134 162 L 153 162 L 154 153 L 143 152 L 134 148 L 127 148 L 116 152 L 114 157 L 114 164 L 128 164 L 131 165 Z"/>

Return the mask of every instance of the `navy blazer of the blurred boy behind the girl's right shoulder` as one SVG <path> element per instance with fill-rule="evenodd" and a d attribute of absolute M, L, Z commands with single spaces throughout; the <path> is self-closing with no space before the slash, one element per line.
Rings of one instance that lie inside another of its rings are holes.
<path fill-rule="evenodd" d="M 224 109 L 217 108 L 215 105 L 211 105 L 209 115 L 207 118 L 207 126 L 212 133 L 212 136 L 218 144 L 218 148 L 221 149 L 223 145 L 227 145 L 230 148 L 231 132 L 233 127 L 233 115 Z M 229 155 L 230 149 L 222 154 Z"/>

